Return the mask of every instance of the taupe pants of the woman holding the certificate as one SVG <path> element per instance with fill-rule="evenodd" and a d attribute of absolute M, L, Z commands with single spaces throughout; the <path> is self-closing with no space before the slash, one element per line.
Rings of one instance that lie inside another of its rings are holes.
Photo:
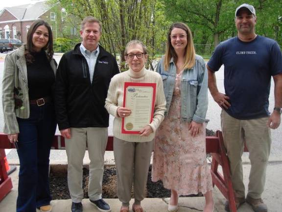
<path fill-rule="evenodd" d="M 123 206 L 129 206 L 132 183 L 135 204 L 145 198 L 153 141 L 128 142 L 114 137 L 114 155 L 117 167 L 118 198 Z"/>

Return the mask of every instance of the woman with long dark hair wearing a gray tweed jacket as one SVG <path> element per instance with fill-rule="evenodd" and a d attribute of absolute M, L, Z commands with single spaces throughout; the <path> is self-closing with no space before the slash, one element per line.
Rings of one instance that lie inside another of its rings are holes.
<path fill-rule="evenodd" d="M 4 132 L 18 146 L 17 212 L 50 212 L 49 154 L 56 131 L 53 84 L 57 64 L 51 27 L 36 20 L 26 44 L 5 57 L 2 80 Z"/>

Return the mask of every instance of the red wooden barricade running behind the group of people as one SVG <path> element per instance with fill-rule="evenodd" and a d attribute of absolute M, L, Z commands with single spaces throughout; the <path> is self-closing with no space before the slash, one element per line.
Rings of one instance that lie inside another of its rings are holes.
<path fill-rule="evenodd" d="M 7 174 L 8 162 L 4 149 L 15 148 L 7 138 L 7 135 L 0 133 L 0 201 L 12 189 L 11 178 Z M 52 149 L 65 149 L 65 139 L 60 135 L 54 136 Z M 109 136 L 106 151 L 113 151 L 113 136 Z M 206 137 L 206 152 L 211 153 L 211 177 L 212 185 L 216 185 L 223 196 L 229 200 L 230 211 L 236 212 L 235 195 L 231 183 L 230 167 L 226 151 L 223 146 L 222 132 L 217 131 L 216 136 Z M 218 165 L 222 166 L 222 172 L 218 172 Z"/>

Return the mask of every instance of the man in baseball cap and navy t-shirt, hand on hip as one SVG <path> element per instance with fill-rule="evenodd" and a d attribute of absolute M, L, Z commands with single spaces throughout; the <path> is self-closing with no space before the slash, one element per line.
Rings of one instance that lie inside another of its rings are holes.
<path fill-rule="evenodd" d="M 250 4 L 235 11 L 237 36 L 221 42 L 207 67 L 209 89 L 222 108 L 221 129 L 230 161 L 236 208 L 245 201 L 255 212 L 267 212 L 261 199 L 271 147 L 270 129 L 277 129 L 282 113 L 282 53 L 275 40 L 257 35 L 257 16 Z M 224 65 L 225 94 L 216 86 L 215 72 Z M 275 107 L 269 111 L 270 81 L 275 84 Z M 246 144 L 251 160 L 247 197 L 242 154 Z M 225 210 L 230 211 L 227 201 Z"/>

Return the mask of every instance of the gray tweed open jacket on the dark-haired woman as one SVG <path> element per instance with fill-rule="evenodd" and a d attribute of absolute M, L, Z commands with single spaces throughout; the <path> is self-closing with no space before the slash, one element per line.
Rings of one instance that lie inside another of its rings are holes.
<path fill-rule="evenodd" d="M 27 69 L 24 56 L 24 46 L 5 57 L 4 74 L 2 80 L 2 106 L 4 113 L 4 133 L 19 133 L 17 117 L 29 118 L 29 98 Z M 54 59 L 50 61 L 51 68 L 56 76 L 57 65 Z M 19 93 L 15 93 L 15 88 Z M 22 107 L 15 108 L 15 99 L 23 101 Z"/>

